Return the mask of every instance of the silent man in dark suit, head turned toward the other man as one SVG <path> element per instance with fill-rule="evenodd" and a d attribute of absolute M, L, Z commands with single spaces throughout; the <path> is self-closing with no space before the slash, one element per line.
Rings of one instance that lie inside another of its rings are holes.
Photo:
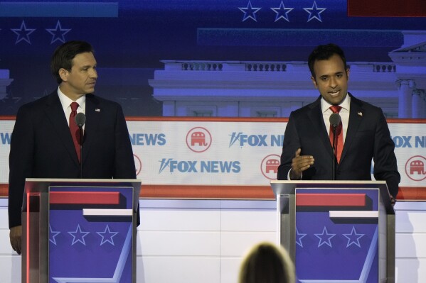
<path fill-rule="evenodd" d="M 50 68 L 58 89 L 21 106 L 11 137 L 9 228 L 12 248 L 18 254 L 26 178 L 136 178 L 121 106 L 92 94 L 97 79 L 92 46 L 83 41 L 64 43 L 53 53 Z M 77 109 L 71 109 L 74 102 Z M 86 116 L 81 157 L 80 145 L 70 131 L 75 111 Z"/>

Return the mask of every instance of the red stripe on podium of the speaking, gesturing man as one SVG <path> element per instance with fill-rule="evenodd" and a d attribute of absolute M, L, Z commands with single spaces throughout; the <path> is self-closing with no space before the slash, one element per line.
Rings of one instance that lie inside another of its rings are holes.
<path fill-rule="evenodd" d="M 366 194 L 296 194 L 296 206 L 366 206 Z"/>

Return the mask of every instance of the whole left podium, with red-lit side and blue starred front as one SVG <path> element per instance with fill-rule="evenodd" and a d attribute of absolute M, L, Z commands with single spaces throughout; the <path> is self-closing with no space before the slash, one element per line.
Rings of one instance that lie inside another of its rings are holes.
<path fill-rule="evenodd" d="M 26 179 L 22 282 L 136 282 L 138 179 Z"/>

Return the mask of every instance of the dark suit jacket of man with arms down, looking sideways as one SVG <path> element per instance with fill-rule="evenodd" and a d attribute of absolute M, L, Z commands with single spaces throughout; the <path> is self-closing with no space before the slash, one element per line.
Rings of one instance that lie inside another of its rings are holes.
<path fill-rule="evenodd" d="M 121 106 L 86 95 L 82 177 L 135 179 L 132 144 Z M 79 178 L 80 164 L 57 91 L 21 106 L 9 155 L 9 227 L 21 225 L 26 178 Z M 138 217 L 139 223 L 139 217 Z"/>

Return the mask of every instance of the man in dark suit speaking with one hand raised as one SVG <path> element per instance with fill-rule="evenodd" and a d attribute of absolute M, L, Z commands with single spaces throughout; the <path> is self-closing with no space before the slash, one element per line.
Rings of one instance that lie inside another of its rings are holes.
<path fill-rule="evenodd" d="M 332 164 L 336 157 L 333 138 L 329 138 L 329 133 L 333 135 L 329 118 L 333 113 L 330 106 L 339 106 L 344 143 L 343 150 L 336 155 L 336 179 L 371 180 L 373 160 L 374 177 L 386 181 L 394 202 L 400 174 L 383 111 L 348 93 L 349 69 L 339 46 L 319 45 L 309 55 L 308 65 L 311 80 L 321 96 L 290 114 L 277 179 L 334 179 Z"/>

